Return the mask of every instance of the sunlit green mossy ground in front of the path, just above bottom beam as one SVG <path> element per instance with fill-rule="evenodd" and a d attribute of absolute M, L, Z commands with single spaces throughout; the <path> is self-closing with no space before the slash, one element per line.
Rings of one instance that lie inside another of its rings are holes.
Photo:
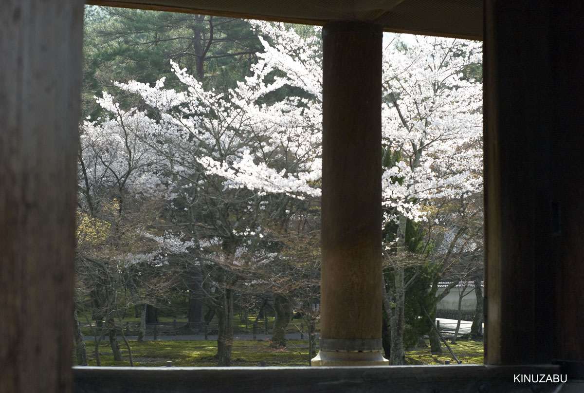
<path fill-rule="evenodd" d="M 443 353 L 433 355 L 427 347 L 406 351 L 407 364 L 444 364 L 445 360 L 456 363 L 449 351 L 443 345 Z M 93 341 L 86 342 L 89 365 L 95 366 Z M 215 354 L 217 342 L 214 341 L 146 341 L 138 343 L 130 341 L 134 357 L 134 366 L 166 366 L 166 361 L 172 361 L 173 366 L 204 367 L 217 366 Z M 478 341 L 459 340 L 451 345 L 456 356 L 464 363 L 483 363 L 483 343 Z M 102 366 L 130 366 L 126 346 L 120 342 L 123 361 L 114 361 L 107 337 L 100 343 L 99 352 Z M 259 366 L 265 361 L 267 366 L 308 366 L 308 341 L 288 340 L 287 349 L 270 348 L 270 342 L 237 340 L 233 344 L 233 366 Z"/>

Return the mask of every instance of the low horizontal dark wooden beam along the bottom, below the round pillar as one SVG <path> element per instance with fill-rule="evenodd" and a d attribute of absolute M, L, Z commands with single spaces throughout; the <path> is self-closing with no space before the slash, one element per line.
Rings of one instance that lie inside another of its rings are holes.
<path fill-rule="evenodd" d="M 75 393 L 540 393 L 557 383 L 515 375 L 562 375 L 559 366 L 75 367 Z M 576 387 L 584 384 L 573 382 Z M 577 390 L 574 390 L 577 391 Z"/>

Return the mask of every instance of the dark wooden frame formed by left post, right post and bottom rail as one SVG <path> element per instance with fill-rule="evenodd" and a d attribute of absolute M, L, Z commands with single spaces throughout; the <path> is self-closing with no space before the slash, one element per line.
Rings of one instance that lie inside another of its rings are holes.
<path fill-rule="evenodd" d="M 584 212 L 583 121 L 573 110 L 584 73 L 562 68 L 584 61 L 582 13 L 573 11 L 485 1 L 486 365 L 71 368 L 83 4 L 0 3 L 0 337 L 8 343 L 0 391 L 543 392 L 557 386 L 517 385 L 513 375 L 559 373 L 581 391 L 584 244 L 579 217 L 566 212 Z M 545 97 L 554 100 L 543 106 Z M 526 142 L 522 160 L 514 149 Z M 548 157 L 550 149 L 561 154 Z M 555 176 L 560 166 L 570 170 Z"/>

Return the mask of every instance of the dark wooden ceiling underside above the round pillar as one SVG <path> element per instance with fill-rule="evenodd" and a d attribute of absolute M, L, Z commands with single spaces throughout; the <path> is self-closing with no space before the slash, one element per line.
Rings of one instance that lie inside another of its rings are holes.
<path fill-rule="evenodd" d="M 482 39 L 482 0 L 87 0 L 87 4 L 323 25 L 378 23 L 385 31 Z"/>

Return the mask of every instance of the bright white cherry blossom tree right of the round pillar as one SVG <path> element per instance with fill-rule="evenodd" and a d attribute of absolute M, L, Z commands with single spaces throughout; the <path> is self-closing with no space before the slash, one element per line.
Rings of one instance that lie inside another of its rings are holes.
<path fill-rule="evenodd" d="M 436 201 L 481 191 L 481 84 L 464 75 L 480 62 L 479 43 L 387 37 L 382 181 L 385 225 L 395 223 L 395 235 L 385 247 L 390 264 L 406 250 L 408 220 L 435 219 Z M 404 362 L 405 291 L 412 282 L 412 277 L 405 281 L 405 269 L 402 263 L 392 264 L 394 307 L 385 309 L 391 323 L 391 364 Z"/>

